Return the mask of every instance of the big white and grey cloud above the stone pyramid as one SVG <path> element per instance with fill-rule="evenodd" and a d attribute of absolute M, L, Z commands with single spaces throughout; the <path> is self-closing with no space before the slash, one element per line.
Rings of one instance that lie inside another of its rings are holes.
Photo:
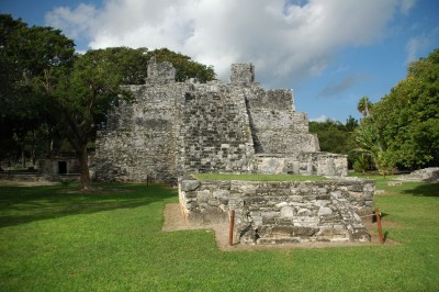
<path fill-rule="evenodd" d="M 48 25 L 91 48 L 168 47 L 213 65 L 226 80 L 232 63 L 251 61 L 257 81 L 278 87 L 316 76 L 346 46 L 382 37 L 414 0 L 106 0 L 101 9 L 57 8 Z M 261 72 L 261 74 L 259 74 Z"/>

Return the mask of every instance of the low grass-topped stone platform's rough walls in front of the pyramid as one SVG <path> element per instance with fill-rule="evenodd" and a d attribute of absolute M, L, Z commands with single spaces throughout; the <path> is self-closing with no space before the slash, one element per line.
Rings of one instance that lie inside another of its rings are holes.
<path fill-rule="evenodd" d="M 235 210 L 235 239 L 243 244 L 367 242 L 360 215 L 372 212 L 374 182 L 199 181 L 179 179 L 187 220 L 207 225 L 227 222 Z"/>

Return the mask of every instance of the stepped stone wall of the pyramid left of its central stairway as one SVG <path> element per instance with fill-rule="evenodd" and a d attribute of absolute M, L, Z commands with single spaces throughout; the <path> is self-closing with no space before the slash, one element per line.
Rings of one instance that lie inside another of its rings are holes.
<path fill-rule="evenodd" d="M 98 133 L 92 159 L 95 178 L 105 181 L 176 179 L 176 96 L 185 83 L 131 86 L 134 103 L 121 104 Z"/>

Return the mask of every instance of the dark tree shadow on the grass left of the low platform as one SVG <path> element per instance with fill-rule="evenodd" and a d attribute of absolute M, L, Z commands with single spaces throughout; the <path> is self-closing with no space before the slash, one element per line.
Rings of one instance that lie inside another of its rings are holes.
<path fill-rule="evenodd" d="M 75 214 L 137 207 L 176 196 L 177 190 L 153 184 L 100 184 L 99 192 L 72 188 L 0 186 L 0 227 Z"/>

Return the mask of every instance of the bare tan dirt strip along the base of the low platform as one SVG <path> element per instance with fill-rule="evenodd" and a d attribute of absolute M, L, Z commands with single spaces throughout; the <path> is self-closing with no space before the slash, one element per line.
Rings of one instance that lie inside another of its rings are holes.
<path fill-rule="evenodd" d="M 215 242 L 221 250 L 225 251 L 237 251 L 237 250 L 261 250 L 261 249 L 293 249 L 293 248 L 325 248 L 325 247 L 340 247 L 340 246 L 380 246 L 380 238 L 378 234 L 374 234 L 371 228 L 375 228 L 376 223 L 371 223 L 371 220 L 364 221 L 365 227 L 372 235 L 372 240 L 370 243 L 304 243 L 304 244 L 282 244 L 282 245 L 241 245 L 235 244 L 233 246 L 228 245 L 228 233 L 229 224 L 215 224 L 209 226 L 194 226 L 191 225 L 183 216 L 181 212 L 180 204 L 169 203 L 166 204 L 165 211 L 165 223 L 164 232 L 176 232 L 176 231 L 190 231 L 190 229 L 207 229 L 215 232 Z M 383 229 L 391 226 L 390 222 L 382 221 Z M 386 239 L 385 246 L 401 245 L 397 242 Z"/>

